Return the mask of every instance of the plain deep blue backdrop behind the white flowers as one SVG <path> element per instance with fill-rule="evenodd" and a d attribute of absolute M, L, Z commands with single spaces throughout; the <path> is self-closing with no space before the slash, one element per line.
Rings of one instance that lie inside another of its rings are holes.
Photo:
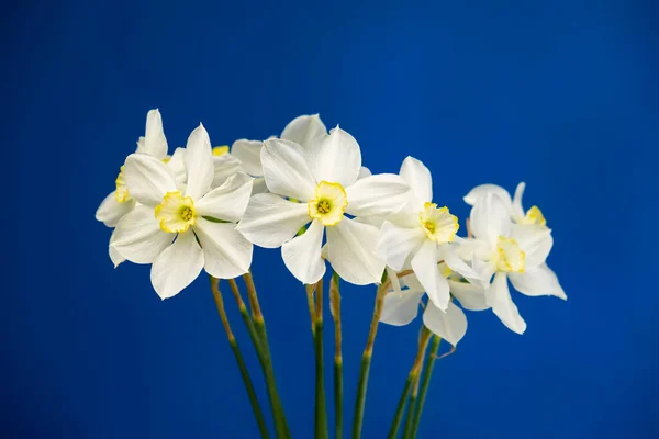
<path fill-rule="evenodd" d="M 420 436 L 659 437 L 656 4 L 310 3 L 4 4 L 1 436 L 257 436 L 205 277 L 161 302 L 148 267 L 112 268 L 93 218 L 159 108 L 171 148 L 200 121 L 220 145 L 319 112 L 376 172 L 423 160 L 462 219 L 471 187 L 526 181 L 569 301 L 515 293 L 524 336 L 470 313 Z M 257 250 L 254 271 L 291 429 L 308 438 L 303 289 L 277 250 Z M 347 426 L 373 292 L 343 290 Z M 381 327 L 366 438 L 389 427 L 418 325 Z"/>

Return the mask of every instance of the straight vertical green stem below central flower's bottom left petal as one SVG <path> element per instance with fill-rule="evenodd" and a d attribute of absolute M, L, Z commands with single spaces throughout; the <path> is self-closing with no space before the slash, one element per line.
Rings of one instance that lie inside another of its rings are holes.
<path fill-rule="evenodd" d="M 323 357 L 323 279 L 316 284 L 315 301 L 315 331 L 313 333 L 315 347 L 315 415 L 314 430 L 316 439 L 327 439 L 327 408 L 325 402 L 325 376 L 324 376 L 324 357 Z"/>

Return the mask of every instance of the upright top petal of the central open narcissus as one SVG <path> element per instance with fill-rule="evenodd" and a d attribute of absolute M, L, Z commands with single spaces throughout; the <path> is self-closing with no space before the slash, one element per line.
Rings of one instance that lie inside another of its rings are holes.
<path fill-rule="evenodd" d="M 316 181 L 339 183 L 344 188 L 357 180 L 361 169 L 361 151 L 357 140 L 336 127 L 323 142 L 314 143 L 309 155 L 309 165 Z"/>

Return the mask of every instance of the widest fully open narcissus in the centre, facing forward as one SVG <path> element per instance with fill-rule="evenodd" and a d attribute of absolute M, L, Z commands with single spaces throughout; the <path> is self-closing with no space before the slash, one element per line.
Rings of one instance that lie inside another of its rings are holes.
<path fill-rule="evenodd" d="M 358 180 L 359 145 L 338 127 L 309 149 L 289 140 L 268 139 L 260 159 L 272 193 L 252 198 L 238 229 L 260 247 L 281 247 L 288 269 L 306 284 L 325 273 L 321 248 L 326 229 L 327 260 L 338 275 L 358 285 L 380 282 L 384 261 L 376 254 L 378 228 L 345 214 L 394 213 L 409 196 L 407 183 L 391 173 Z"/>

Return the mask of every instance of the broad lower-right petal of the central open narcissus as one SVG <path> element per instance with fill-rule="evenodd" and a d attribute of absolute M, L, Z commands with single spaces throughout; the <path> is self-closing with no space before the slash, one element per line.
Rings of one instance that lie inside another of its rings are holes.
<path fill-rule="evenodd" d="M 368 285 L 382 280 L 386 264 L 376 252 L 378 234 L 376 227 L 347 217 L 327 227 L 327 260 L 346 282 Z"/>

